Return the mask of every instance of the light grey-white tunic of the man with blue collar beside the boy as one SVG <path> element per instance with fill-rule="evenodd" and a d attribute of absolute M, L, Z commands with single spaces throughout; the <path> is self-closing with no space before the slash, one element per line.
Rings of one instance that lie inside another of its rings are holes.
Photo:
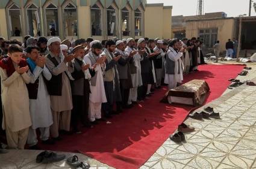
<path fill-rule="evenodd" d="M 49 72 L 48 68 L 40 68 L 37 66 L 33 73 L 28 70 L 28 76 L 31 77 L 31 83 L 35 83 L 37 78 L 39 78 L 37 99 L 30 99 L 31 128 L 49 127 L 52 125 L 51 99 L 43 76 L 46 80 L 50 80 L 52 74 Z"/>

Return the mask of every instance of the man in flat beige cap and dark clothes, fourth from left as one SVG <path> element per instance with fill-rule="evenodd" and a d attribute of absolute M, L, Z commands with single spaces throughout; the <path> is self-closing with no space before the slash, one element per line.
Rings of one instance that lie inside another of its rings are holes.
<path fill-rule="evenodd" d="M 89 121 L 89 95 L 90 82 L 89 79 L 95 75 L 95 71 L 86 64 L 84 59 L 83 45 L 78 45 L 73 48 L 72 53 L 75 59 L 69 62 L 69 71 L 73 77 L 71 82 L 73 110 L 71 115 L 71 125 L 73 132 L 79 133 L 78 123 L 81 121 L 83 126 L 90 127 Z"/>

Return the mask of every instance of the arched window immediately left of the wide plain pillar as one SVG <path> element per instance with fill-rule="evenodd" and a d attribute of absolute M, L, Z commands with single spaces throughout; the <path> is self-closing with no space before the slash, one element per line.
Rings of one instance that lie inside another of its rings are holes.
<path fill-rule="evenodd" d="M 69 3 L 64 7 L 64 31 L 65 36 L 77 36 L 77 9 Z"/>

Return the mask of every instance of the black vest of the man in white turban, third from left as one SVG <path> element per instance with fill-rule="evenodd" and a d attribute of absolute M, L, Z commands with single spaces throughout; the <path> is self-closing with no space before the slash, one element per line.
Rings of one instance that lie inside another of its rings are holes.
<path fill-rule="evenodd" d="M 58 61 L 50 54 L 47 55 L 47 58 L 57 67 L 59 65 Z M 46 83 L 49 95 L 52 96 L 61 96 L 61 90 L 62 90 L 62 73 L 58 74 L 57 76 L 54 76 L 52 74 L 52 79 L 49 80 Z"/>

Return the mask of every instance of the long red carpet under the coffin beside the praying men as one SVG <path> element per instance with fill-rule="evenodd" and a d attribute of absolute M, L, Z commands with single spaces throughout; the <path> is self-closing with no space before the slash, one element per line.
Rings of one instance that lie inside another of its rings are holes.
<path fill-rule="evenodd" d="M 206 80 L 210 95 L 206 102 L 213 101 L 230 84 L 244 65 L 202 65 L 198 73 L 184 77 L 184 82 L 193 79 Z M 166 89 L 155 92 L 151 98 L 131 110 L 114 116 L 111 124 L 101 122 L 93 129 L 84 129 L 83 134 L 63 136 L 63 141 L 44 149 L 65 152 L 81 152 L 115 168 L 139 168 L 163 144 L 186 118 L 192 108 L 185 105 L 160 103 Z"/>

